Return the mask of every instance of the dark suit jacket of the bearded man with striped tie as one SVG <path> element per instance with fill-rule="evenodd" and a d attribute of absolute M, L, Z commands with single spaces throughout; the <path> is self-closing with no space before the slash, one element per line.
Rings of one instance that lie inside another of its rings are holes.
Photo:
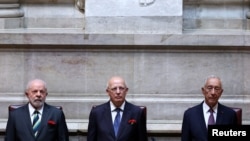
<path fill-rule="evenodd" d="M 52 121 L 55 124 L 50 124 Z M 35 138 L 28 104 L 9 112 L 5 141 L 69 141 L 62 110 L 44 104 L 41 126 Z"/>

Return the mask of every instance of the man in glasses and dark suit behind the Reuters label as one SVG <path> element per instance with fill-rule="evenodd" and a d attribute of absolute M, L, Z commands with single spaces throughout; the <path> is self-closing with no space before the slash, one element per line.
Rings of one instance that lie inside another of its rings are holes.
<path fill-rule="evenodd" d="M 204 100 L 184 112 L 181 141 L 207 141 L 208 125 L 237 124 L 235 111 L 219 103 L 223 87 L 218 76 L 208 76 L 201 91 Z"/>

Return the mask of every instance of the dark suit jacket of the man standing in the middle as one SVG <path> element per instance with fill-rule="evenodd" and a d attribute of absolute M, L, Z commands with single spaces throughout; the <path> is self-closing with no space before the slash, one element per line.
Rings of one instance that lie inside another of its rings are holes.
<path fill-rule="evenodd" d="M 146 116 L 143 110 L 125 103 L 117 139 L 115 137 L 110 103 L 92 108 L 89 115 L 87 141 L 147 141 Z M 129 120 L 135 119 L 135 124 Z"/>

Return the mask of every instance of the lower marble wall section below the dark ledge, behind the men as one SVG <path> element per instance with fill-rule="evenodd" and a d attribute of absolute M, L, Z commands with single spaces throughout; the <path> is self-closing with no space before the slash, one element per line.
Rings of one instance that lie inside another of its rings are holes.
<path fill-rule="evenodd" d="M 72 129 L 86 129 L 91 106 L 108 101 L 107 80 L 121 75 L 128 83 L 128 100 L 147 106 L 149 130 L 168 131 L 170 125 L 179 131 L 184 110 L 203 100 L 204 78 L 215 74 L 224 84 L 221 102 L 242 107 L 243 123 L 249 123 L 247 51 L 78 48 L 1 51 L 0 118 L 8 117 L 8 104 L 26 102 L 23 90 L 29 79 L 42 78 L 48 83 L 47 101 L 63 106 Z"/>

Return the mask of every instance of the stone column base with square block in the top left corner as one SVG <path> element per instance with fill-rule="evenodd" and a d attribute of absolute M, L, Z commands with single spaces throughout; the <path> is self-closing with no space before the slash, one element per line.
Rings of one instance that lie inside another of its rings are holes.
<path fill-rule="evenodd" d="M 23 16 L 19 0 L 0 0 L 0 29 L 23 27 Z"/>

